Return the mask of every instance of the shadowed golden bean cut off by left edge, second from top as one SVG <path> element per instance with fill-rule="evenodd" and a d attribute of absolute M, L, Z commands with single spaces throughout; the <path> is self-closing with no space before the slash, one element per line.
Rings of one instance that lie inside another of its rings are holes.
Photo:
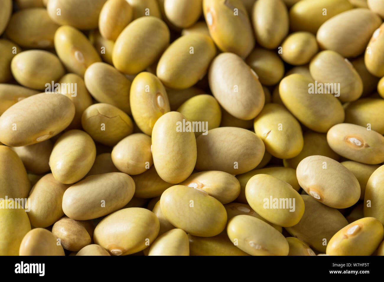
<path fill-rule="evenodd" d="M 21 52 L 22 49 L 16 43 L 13 43 L 10 40 L 0 39 L 0 52 L 3 55 L 0 58 L 0 83 L 8 82 L 12 79 L 11 62 L 13 57 L 16 56 L 16 54 L 13 53 L 14 51 L 18 53 Z M 0 94 L 0 96 L 2 95 Z M 5 107 L 5 105 L 0 106 L 0 110 L 3 107 Z"/>

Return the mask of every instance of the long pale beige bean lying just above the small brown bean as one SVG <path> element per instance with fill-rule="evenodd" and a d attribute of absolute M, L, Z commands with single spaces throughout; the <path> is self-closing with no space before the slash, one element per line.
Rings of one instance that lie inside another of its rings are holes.
<path fill-rule="evenodd" d="M 76 220 L 99 218 L 124 207 L 134 193 L 135 183 L 125 173 L 91 175 L 65 191 L 63 211 Z"/>

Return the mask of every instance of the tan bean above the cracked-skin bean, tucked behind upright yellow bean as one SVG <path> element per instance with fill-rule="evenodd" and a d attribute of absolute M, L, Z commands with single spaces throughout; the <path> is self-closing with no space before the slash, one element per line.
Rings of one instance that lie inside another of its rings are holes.
<path fill-rule="evenodd" d="M 131 81 L 113 66 L 106 63 L 91 64 L 85 71 L 84 83 L 96 101 L 111 104 L 131 114 Z"/>

